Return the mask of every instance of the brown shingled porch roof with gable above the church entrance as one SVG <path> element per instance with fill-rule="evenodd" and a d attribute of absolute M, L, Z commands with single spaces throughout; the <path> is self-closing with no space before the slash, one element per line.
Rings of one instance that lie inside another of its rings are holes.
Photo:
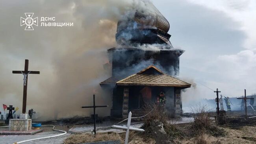
<path fill-rule="evenodd" d="M 162 87 L 182 87 L 182 88 L 188 88 L 191 87 L 191 84 L 186 83 L 180 79 L 174 78 L 172 76 L 169 76 L 167 74 L 164 74 L 156 68 L 155 66 L 148 66 L 144 70 L 141 70 L 137 74 L 134 74 L 132 76 L 129 76 L 127 78 L 124 78 L 120 81 L 115 82 L 116 78 L 109 78 L 100 85 L 103 84 L 110 84 L 110 83 L 116 83 L 119 86 L 125 86 L 125 85 L 141 85 L 141 86 L 162 86 Z"/>

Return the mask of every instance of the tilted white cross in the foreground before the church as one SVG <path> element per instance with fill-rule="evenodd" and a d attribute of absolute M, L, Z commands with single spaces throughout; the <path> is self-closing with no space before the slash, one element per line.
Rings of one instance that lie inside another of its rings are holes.
<path fill-rule="evenodd" d="M 125 142 L 124 142 L 124 144 L 128 144 L 129 130 L 131 130 L 131 131 L 139 131 L 139 132 L 145 131 L 144 129 L 138 129 L 138 128 L 135 128 L 135 127 L 130 127 L 131 118 L 132 118 L 132 112 L 130 112 L 130 113 L 128 114 L 127 126 L 116 126 L 116 125 L 111 126 L 113 129 L 123 129 L 123 130 L 126 130 L 126 135 L 125 135 Z"/>

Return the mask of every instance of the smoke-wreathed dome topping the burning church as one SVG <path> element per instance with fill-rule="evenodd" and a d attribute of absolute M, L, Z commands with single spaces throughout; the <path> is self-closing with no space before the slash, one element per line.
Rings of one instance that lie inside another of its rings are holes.
<path fill-rule="evenodd" d="M 170 24 L 158 9 L 148 0 L 141 0 L 144 7 L 138 7 L 128 17 L 117 23 L 116 41 L 121 45 L 168 44 Z"/>

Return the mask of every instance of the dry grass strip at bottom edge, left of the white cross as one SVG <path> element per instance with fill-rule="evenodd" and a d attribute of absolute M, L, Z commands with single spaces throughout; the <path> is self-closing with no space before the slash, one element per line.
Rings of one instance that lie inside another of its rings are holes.
<path fill-rule="evenodd" d="M 84 142 L 100 142 L 108 140 L 120 140 L 122 139 L 117 133 L 98 133 L 96 137 L 92 134 L 75 134 L 66 138 L 64 144 L 80 144 Z"/>

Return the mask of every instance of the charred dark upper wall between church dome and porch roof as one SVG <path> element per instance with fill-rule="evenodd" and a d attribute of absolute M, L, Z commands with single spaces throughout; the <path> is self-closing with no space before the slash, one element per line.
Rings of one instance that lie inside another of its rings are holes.
<path fill-rule="evenodd" d="M 154 65 L 164 73 L 179 75 L 182 50 L 109 50 L 112 57 L 112 76 L 129 76 L 149 65 Z"/>

